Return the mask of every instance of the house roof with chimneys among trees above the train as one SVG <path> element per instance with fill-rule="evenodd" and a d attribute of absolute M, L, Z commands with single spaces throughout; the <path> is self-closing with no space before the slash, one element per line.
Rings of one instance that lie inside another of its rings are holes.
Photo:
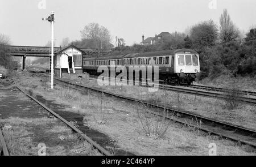
<path fill-rule="evenodd" d="M 177 32 L 175 32 L 176 36 Z M 170 41 L 175 36 L 171 35 L 169 32 L 161 32 L 159 35 L 155 35 L 155 37 L 148 37 L 146 40 L 144 40 L 144 35 L 142 35 L 142 42 L 140 43 L 141 45 L 153 45 L 159 42 L 164 42 L 164 41 Z"/>

